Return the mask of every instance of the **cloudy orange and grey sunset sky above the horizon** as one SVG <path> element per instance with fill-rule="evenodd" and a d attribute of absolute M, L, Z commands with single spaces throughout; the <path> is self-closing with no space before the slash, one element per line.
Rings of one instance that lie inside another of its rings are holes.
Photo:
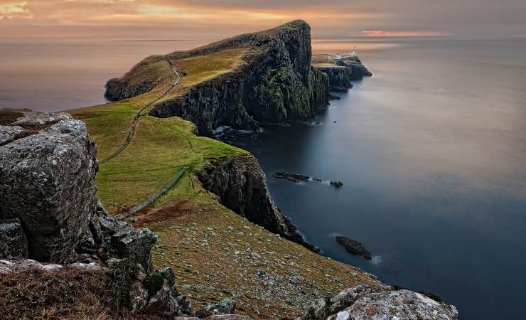
<path fill-rule="evenodd" d="M 526 0 L 0 0 L 0 37 L 220 38 L 297 18 L 314 38 L 526 36 Z"/>

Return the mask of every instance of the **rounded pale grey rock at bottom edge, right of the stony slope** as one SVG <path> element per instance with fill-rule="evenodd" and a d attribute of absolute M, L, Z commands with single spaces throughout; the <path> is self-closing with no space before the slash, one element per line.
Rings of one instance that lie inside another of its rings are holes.
<path fill-rule="evenodd" d="M 301 320 L 458 319 L 455 306 L 437 302 L 418 292 L 389 286 L 361 285 L 334 297 L 316 300 Z"/>

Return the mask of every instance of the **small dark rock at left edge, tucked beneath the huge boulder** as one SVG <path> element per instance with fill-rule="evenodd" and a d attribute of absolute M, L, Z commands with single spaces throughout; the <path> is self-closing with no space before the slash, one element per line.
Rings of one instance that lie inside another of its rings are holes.
<path fill-rule="evenodd" d="M 28 257 L 28 240 L 20 220 L 0 223 L 0 259 Z"/>

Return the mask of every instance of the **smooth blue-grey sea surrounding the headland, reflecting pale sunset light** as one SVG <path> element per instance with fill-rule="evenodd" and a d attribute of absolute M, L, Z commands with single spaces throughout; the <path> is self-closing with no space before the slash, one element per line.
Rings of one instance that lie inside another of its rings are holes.
<path fill-rule="evenodd" d="M 103 103 L 104 82 L 146 55 L 208 42 L 0 39 L 0 108 Z M 252 151 L 276 205 L 324 255 L 438 294 L 461 319 L 524 319 L 526 38 L 313 41 L 315 53 L 353 46 L 374 76 L 313 124 L 222 139 Z M 372 261 L 335 235 L 363 242 Z"/>

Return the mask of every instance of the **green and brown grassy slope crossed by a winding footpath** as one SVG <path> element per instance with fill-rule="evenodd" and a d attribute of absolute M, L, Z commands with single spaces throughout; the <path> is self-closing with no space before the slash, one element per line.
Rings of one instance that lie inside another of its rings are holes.
<path fill-rule="evenodd" d="M 243 65 L 246 52 L 247 49 L 230 49 L 171 60 L 177 70 L 187 75 L 161 100 L 181 95 L 188 87 L 235 70 Z M 70 111 L 86 122 L 97 142 L 99 159 L 124 142 L 136 112 L 161 97 L 173 82 L 166 60 L 149 59 L 145 61 L 154 65 L 141 65 L 140 76 L 162 80 L 151 92 Z M 193 132 L 193 124 L 178 117 L 142 116 L 127 149 L 100 166 L 97 186 L 104 205 L 110 212 L 117 213 L 156 193 L 183 166 L 190 167 L 166 195 L 139 212 L 136 225 L 151 228 L 159 235 L 153 252 L 154 265 L 173 267 L 178 290 L 188 294 L 196 306 L 216 302 L 218 297 L 234 296 L 240 314 L 256 319 L 291 316 L 298 314 L 300 307 L 319 294 L 373 281 L 360 270 L 277 238 L 221 206 L 213 194 L 200 187 L 192 171 L 202 167 L 208 159 L 239 156 L 246 151 L 197 137 Z M 282 281 L 275 287 L 267 287 L 257 277 L 257 270 L 277 274 Z M 289 284 L 294 272 L 308 282 Z M 260 314 L 257 314 L 258 309 Z"/>

